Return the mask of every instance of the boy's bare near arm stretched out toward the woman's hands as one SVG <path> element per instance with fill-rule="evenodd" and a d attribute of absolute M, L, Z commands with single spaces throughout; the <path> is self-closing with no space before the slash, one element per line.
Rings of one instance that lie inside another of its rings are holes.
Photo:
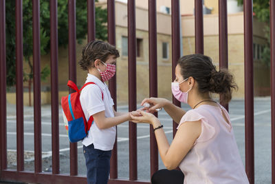
<path fill-rule="evenodd" d="M 117 113 L 118 112 L 116 112 L 115 114 Z M 106 129 L 109 127 L 113 127 L 115 125 L 119 125 L 120 123 L 129 121 L 131 119 L 129 112 L 124 112 L 124 113 L 120 112 L 119 114 L 121 115 L 106 118 L 105 111 L 101 111 L 96 114 L 93 114 L 93 118 L 99 129 Z"/>

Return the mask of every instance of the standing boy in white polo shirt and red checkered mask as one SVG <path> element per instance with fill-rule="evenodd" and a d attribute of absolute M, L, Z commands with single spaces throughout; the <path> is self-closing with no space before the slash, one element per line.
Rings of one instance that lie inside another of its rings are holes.
<path fill-rule="evenodd" d="M 87 70 L 87 85 L 80 94 L 80 103 L 88 121 L 94 117 L 88 135 L 83 139 L 83 152 L 87 166 L 87 182 L 108 183 L 110 158 L 115 143 L 115 125 L 129 121 L 129 113 L 115 112 L 113 99 L 104 83 L 115 75 L 115 60 L 120 57 L 113 45 L 91 41 L 83 48 L 80 67 Z"/>

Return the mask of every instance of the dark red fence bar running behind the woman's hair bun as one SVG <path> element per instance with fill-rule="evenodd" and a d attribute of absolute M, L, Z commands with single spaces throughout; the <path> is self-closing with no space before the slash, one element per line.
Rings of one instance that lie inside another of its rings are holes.
<path fill-rule="evenodd" d="M 219 0 L 219 69 L 228 69 L 228 8 L 227 1 Z M 228 103 L 222 103 L 224 95 L 220 96 L 221 105 L 228 110 Z"/>

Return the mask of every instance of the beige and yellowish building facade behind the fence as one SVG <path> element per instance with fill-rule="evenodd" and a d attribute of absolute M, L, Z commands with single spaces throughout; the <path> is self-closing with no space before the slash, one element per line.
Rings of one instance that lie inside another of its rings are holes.
<path fill-rule="evenodd" d="M 149 96 L 148 70 L 148 0 L 135 1 L 136 43 L 137 43 L 137 103 Z M 195 53 L 195 17 L 194 1 L 181 0 L 181 43 L 182 54 Z M 107 7 L 107 1 L 101 0 L 98 6 Z M 216 0 L 205 0 L 203 5 L 203 43 L 204 54 L 212 58 L 219 68 L 219 5 Z M 171 37 L 170 1 L 157 1 L 157 86 L 158 96 L 172 99 L 172 37 Z M 266 96 L 270 93 L 270 70 L 261 62 L 263 45 L 267 42 L 263 31 L 264 24 L 254 19 L 254 94 Z M 118 105 L 128 104 L 128 28 L 126 0 L 115 1 L 115 36 L 116 48 L 120 51 L 117 60 L 117 97 Z M 243 11 L 235 0 L 228 0 L 228 67 L 234 74 L 239 90 L 233 92 L 233 99 L 244 98 L 244 30 Z M 76 46 L 77 61 L 81 57 L 83 45 Z M 59 48 L 58 81 L 59 96 L 68 93 L 68 54 L 67 49 Z M 50 65 L 50 54 L 41 57 L 41 66 Z M 87 72 L 77 65 L 77 83 L 83 85 Z M 41 103 L 50 103 L 50 77 L 42 83 Z M 8 93 L 8 102 L 15 103 L 15 93 Z M 28 104 L 28 92 L 24 94 Z M 13 100 L 14 99 L 14 100 Z"/>

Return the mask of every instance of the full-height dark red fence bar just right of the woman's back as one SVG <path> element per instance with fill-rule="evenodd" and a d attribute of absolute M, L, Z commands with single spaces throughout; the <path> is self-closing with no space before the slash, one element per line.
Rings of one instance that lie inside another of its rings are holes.
<path fill-rule="evenodd" d="M 245 31 L 245 170 L 254 184 L 254 94 L 252 0 L 243 1 Z"/>

